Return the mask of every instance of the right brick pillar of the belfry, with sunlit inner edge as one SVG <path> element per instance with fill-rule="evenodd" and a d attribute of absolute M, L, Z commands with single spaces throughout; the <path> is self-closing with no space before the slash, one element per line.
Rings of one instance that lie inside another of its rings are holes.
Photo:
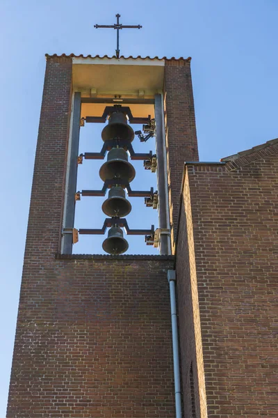
<path fill-rule="evenodd" d="M 165 61 L 164 111 L 171 241 L 174 252 L 183 165 L 185 161 L 199 161 L 190 59 Z"/>

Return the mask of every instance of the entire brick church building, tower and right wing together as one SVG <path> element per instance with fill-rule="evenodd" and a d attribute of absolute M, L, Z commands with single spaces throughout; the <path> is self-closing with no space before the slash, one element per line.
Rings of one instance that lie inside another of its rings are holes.
<path fill-rule="evenodd" d="M 115 100 L 155 119 L 157 256 L 72 254 Z M 47 56 L 7 418 L 276 417 L 277 154 L 198 161 L 190 59 Z"/>

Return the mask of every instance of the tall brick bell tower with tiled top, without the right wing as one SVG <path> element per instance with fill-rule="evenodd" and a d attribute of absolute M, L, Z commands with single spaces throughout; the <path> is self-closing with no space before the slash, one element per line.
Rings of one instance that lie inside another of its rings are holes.
<path fill-rule="evenodd" d="M 119 97 L 156 118 L 167 249 L 72 254 L 80 121 Z M 47 56 L 8 418 L 174 417 L 169 238 L 194 118 L 190 59 Z"/>

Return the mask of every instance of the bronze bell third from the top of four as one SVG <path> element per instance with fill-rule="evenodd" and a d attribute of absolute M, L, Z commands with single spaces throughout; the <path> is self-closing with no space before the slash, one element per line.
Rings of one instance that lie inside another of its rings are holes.
<path fill-rule="evenodd" d="M 104 201 L 102 210 L 105 215 L 111 217 L 123 217 L 129 215 L 131 203 L 126 199 L 124 189 L 120 186 L 111 187 L 108 199 Z"/>

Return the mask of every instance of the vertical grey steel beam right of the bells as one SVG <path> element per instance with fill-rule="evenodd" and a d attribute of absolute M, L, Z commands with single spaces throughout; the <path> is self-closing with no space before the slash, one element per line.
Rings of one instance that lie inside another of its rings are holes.
<path fill-rule="evenodd" d="M 167 179 L 165 160 L 165 134 L 163 132 L 163 102 L 162 95 L 154 96 L 154 114 L 156 119 L 156 156 L 157 156 L 157 184 L 158 184 L 158 224 L 159 228 L 169 228 L 167 210 Z M 169 239 L 167 235 L 161 235 L 161 254 L 170 254 Z"/>

